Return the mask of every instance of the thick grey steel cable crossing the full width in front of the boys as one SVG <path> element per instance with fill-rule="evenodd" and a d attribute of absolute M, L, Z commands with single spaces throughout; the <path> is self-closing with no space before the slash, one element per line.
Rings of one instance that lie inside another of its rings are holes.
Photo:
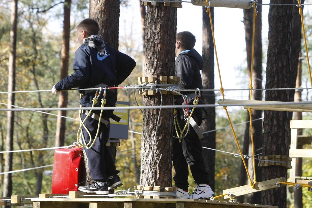
<path fill-rule="evenodd" d="M 254 104 L 248 104 L 248 106 L 270 106 L 270 105 L 280 105 L 280 106 L 284 106 L 284 105 L 289 105 L 289 104 L 312 104 L 312 101 L 301 101 L 301 102 L 279 102 L 276 103 L 276 101 L 272 101 L 275 103 L 270 103 L 270 101 L 266 101 L 265 104 L 258 104 L 258 103 L 254 103 Z M 188 105 L 189 108 L 208 108 L 208 107 L 227 107 L 227 106 L 241 106 L 244 107 L 246 106 L 246 104 L 198 104 L 198 105 Z M 154 105 L 154 106 L 115 106 L 115 107 L 83 107 L 83 108 L 79 108 L 79 107 L 70 107 L 70 108 L 28 108 L 28 109 L 6 109 L 6 108 L 0 108 L 0 111 L 52 111 L 52 110 L 120 110 L 120 109 L 169 109 L 169 108 L 186 108 L 186 105 Z"/>

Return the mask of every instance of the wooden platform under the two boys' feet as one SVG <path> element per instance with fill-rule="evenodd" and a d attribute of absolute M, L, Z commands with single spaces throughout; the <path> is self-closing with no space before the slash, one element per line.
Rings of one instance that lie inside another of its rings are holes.
<path fill-rule="evenodd" d="M 200 199 L 34 198 L 32 201 L 34 208 L 278 208 L 278 206 Z"/>

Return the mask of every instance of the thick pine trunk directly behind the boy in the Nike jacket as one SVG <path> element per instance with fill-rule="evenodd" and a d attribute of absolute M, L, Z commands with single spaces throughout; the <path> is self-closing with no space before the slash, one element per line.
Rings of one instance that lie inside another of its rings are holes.
<path fill-rule="evenodd" d="M 119 37 L 119 13 L 120 13 L 120 1 L 111 0 L 90 0 L 89 16 L 95 19 L 99 23 L 99 35 L 102 36 L 105 44 L 118 50 L 118 37 Z M 117 98 L 117 90 L 116 98 Z M 109 146 L 113 160 L 116 160 L 116 147 Z M 84 175 L 85 183 L 92 182 L 90 171 L 88 167 L 88 158 L 84 151 L 84 161 L 86 175 Z"/>

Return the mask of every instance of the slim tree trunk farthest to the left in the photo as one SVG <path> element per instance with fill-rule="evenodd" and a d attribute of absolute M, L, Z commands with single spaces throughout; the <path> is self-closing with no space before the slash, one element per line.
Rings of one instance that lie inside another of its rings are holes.
<path fill-rule="evenodd" d="M 15 60 L 16 60 L 16 38 L 17 37 L 17 0 L 12 0 L 11 7 L 11 31 L 10 31 L 10 54 L 9 54 L 9 73 L 8 73 L 8 91 L 15 91 Z M 9 93 L 7 97 L 8 108 L 13 108 L 15 95 Z M 14 111 L 7 112 L 7 136 L 6 151 L 13 150 L 14 133 Z M 12 171 L 13 154 L 7 153 L 5 156 L 4 172 Z M 3 178 L 3 197 L 12 195 L 12 174 L 4 174 Z"/>

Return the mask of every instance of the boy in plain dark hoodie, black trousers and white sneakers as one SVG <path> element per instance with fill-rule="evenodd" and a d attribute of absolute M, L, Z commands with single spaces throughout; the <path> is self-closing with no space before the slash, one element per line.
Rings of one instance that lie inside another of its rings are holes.
<path fill-rule="evenodd" d="M 202 56 L 194 49 L 195 36 L 188 31 L 179 32 L 176 41 L 175 74 L 180 77 L 180 89 L 202 89 L 202 76 L 200 70 L 203 67 Z M 181 91 L 188 99 L 194 99 L 194 91 Z M 175 103 L 182 104 L 184 100 L 178 99 Z M 183 112 L 178 110 L 178 118 Z M 202 109 L 197 108 L 193 112 L 194 120 L 197 125 L 202 123 Z M 185 120 L 181 119 L 179 125 L 183 129 Z M 193 178 L 197 186 L 193 194 L 188 195 L 188 165 L 190 166 Z M 177 197 L 180 199 L 210 199 L 214 193 L 209 186 L 209 175 L 205 169 L 202 157 L 202 144 L 193 127 L 190 126 L 185 138 L 173 141 L 173 167 L 176 171 L 173 180 L 178 187 Z"/>

